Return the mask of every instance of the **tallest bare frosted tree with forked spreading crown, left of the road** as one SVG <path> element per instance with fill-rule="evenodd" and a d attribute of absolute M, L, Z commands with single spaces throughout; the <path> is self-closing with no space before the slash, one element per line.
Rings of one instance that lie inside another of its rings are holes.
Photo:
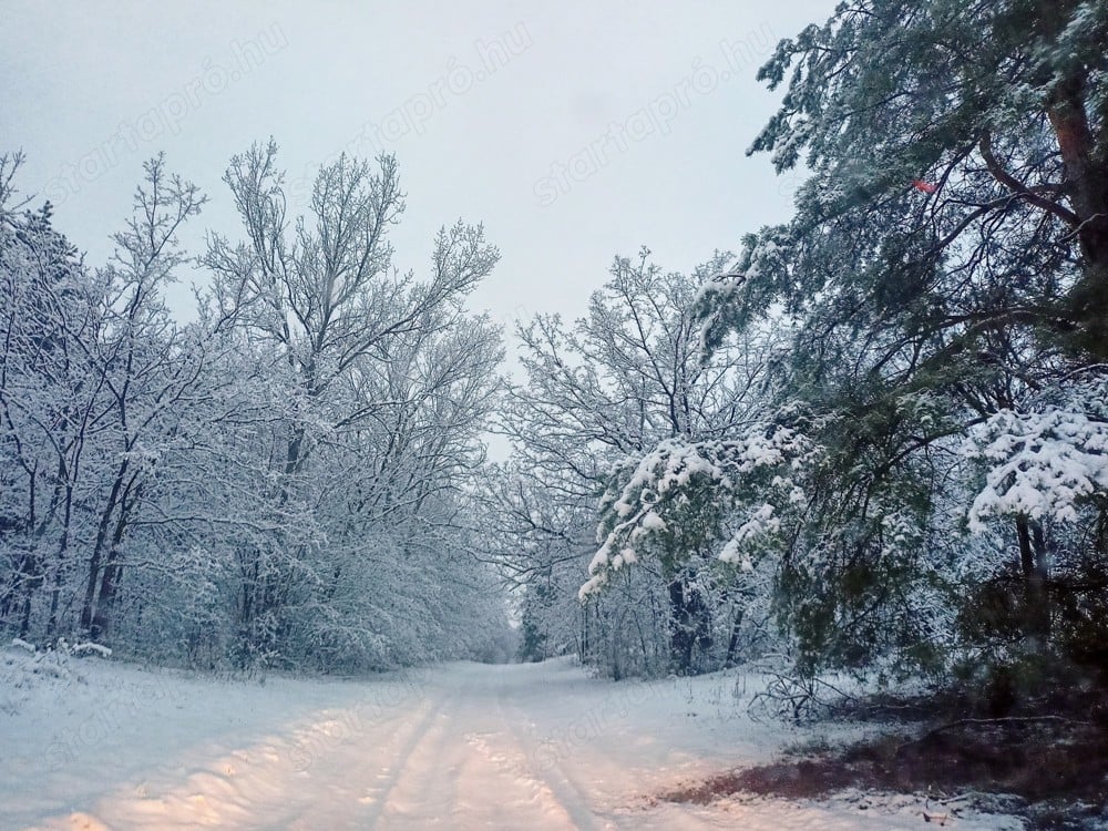
<path fill-rule="evenodd" d="M 428 279 L 397 274 L 388 235 L 404 202 L 391 156 L 376 170 L 346 155 L 325 166 L 311 218 L 295 222 L 274 142 L 235 156 L 224 178 L 247 239 L 213 236 L 208 317 L 274 356 L 291 404 L 267 462 L 268 499 L 288 519 L 278 536 L 237 554 L 244 643 L 268 654 L 287 639 L 289 609 L 329 619 L 319 602 L 346 595 L 347 546 L 363 563 L 391 552 L 384 570 L 402 568 L 412 542 L 404 535 L 478 463 L 500 351 L 462 302 L 499 253 L 480 226 L 458 223 L 435 238 Z M 375 535 L 367 523 L 399 533 Z M 369 579 L 365 565 L 359 573 Z M 384 586 L 356 585 L 370 593 L 362 603 L 373 594 L 392 603 Z"/>

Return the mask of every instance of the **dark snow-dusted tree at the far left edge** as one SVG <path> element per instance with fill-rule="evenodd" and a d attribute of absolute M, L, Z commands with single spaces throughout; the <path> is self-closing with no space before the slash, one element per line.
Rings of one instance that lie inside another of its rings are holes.
<path fill-rule="evenodd" d="M 99 319 L 84 265 L 53 229 L 50 205 L 10 205 L 21 162 L 0 156 L 0 614 L 28 637 L 32 628 L 55 633 L 72 571 L 82 427 L 95 410 L 84 368 Z M 48 608 L 35 614 L 41 597 Z"/>

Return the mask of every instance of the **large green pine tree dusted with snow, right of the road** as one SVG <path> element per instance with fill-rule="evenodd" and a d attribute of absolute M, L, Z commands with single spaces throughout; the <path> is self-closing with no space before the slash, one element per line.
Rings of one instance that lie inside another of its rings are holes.
<path fill-rule="evenodd" d="M 982 548 L 950 520 L 976 488 L 962 443 L 1101 371 L 1106 41 L 1102 2 L 874 0 L 841 3 L 759 72 L 787 89 L 748 152 L 811 175 L 700 310 L 709 346 L 767 312 L 798 327 L 788 398 L 821 460 L 779 586 L 810 668 L 926 657 L 950 623 L 926 606 L 944 583 L 964 601 L 950 564 Z M 996 554 L 1018 564 L 1022 632 L 1043 643 L 1067 537 L 1006 517 Z"/>

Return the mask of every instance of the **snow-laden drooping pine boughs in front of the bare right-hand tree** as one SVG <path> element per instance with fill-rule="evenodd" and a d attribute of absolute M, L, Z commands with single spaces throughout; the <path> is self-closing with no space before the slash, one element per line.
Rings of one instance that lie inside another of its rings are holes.
<path fill-rule="evenodd" d="M 812 453 L 807 437 L 781 424 L 760 424 L 731 441 L 660 442 L 603 497 L 601 547 L 579 598 L 627 565 L 654 556 L 673 574 L 679 557 L 720 542 L 718 560 L 751 570 L 752 552 L 780 530 L 781 514 L 804 503 L 793 478 Z"/>

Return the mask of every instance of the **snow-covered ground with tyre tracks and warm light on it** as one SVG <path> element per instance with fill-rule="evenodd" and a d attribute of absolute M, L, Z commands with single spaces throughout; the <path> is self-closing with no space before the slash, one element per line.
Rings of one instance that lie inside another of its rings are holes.
<path fill-rule="evenodd" d="M 922 797 L 659 801 L 813 738 L 752 722 L 756 683 L 612 684 L 558 660 L 263 685 L 9 649 L 0 828 L 932 828 Z M 950 824 L 1022 827 L 968 809 Z"/>

